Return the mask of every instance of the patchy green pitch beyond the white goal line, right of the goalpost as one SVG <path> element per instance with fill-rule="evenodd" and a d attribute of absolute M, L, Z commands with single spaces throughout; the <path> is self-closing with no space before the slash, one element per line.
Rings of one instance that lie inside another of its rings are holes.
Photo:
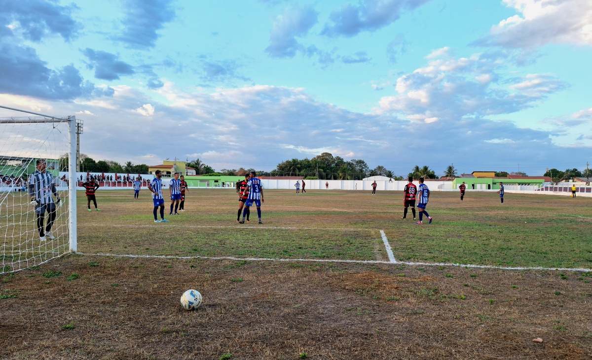
<path fill-rule="evenodd" d="M 311 190 L 308 197 L 268 190 L 263 225 L 255 208 L 250 223 L 236 223 L 231 189 L 189 194 L 181 215 L 169 216 L 166 203 L 169 223 L 153 222 L 147 192 L 134 201 L 133 192 L 100 190 L 101 212 L 87 212 L 80 194 L 78 249 L 89 254 L 388 261 L 383 230 L 401 261 L 592 268 L 585 241 L 592 207 L 571 216 L 571 203 L 557 196 L 511 194 L 501 206 L 490 193 L 471 192 L 461 205 L 456 193 L 433 192 L 428 210 L 435 221 L 419 226 L 400 220 L 403 207 L 394 204 L 401 192 L 369 198 L 339 190 Z"/>

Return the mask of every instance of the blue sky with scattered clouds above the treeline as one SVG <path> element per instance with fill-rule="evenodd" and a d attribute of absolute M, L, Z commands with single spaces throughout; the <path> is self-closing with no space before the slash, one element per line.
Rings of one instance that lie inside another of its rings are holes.
<path fill-rule="evenodd" d="M 589 0 L 3 0 L 0 22 L 0 105 L 83 119 L 95 160 L 592 160 Z"/>

